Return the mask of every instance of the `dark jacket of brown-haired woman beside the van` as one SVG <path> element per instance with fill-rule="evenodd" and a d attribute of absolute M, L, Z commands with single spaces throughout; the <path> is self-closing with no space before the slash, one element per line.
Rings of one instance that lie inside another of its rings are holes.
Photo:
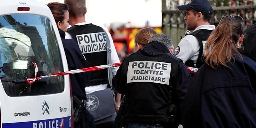
<path fill-rule="evenodd" d="M 73 39 L 65 39 L 65 32 L 59 29 L 61 41 L 65 50 L 69 70 L 82 69 L 90 67 L 79 49 L 77 42 Z M 80 100 L 86 99 L 85 87 L 89 82 L 90 72 L 70 74 L 73 96 Z"/>

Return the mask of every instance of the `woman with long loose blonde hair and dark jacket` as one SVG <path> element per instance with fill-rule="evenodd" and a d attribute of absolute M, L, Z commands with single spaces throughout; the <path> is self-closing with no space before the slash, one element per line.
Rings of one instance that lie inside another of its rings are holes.
<path fill-rule="evenodd" d="M 256 62 L 240 49 L 242 17 L 222 17 L 182 104 L 184 128 L 255 128 Z"/>

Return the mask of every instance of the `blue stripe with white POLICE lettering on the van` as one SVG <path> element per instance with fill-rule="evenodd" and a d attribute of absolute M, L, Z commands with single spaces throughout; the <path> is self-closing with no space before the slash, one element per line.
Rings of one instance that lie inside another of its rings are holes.
<path fill-rule="evenodd" d="M 31 122 L 3 123 L 2 128 L 71 128 L 71 116 Z"/>

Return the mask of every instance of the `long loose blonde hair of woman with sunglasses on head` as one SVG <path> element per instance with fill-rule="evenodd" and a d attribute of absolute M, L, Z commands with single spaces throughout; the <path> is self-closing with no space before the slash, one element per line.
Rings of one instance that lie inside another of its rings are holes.
<path fill-rule="evenodd" d="M 237 42 L 241 36 L 241 21 L 228 16 L 223 17 L 218 26 L 210 34 L 205 48 L 205 63 L 212 68 L 227 66 L 227 62 L 234 60 L 234 55 L 242 58 L 237 50 Z"/>

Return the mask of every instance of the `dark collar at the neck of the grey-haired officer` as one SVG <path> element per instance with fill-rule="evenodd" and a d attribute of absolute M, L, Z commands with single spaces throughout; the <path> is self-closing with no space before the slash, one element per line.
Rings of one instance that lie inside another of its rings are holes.
<path fill-rule="evenodd" d="M 147 43 L 143 49 L 146 54 L 148 55 L 162 55 L 164 53 L 170 53 L 169 49 L 163 45 L 161 42 L 152 41 Z"/>

